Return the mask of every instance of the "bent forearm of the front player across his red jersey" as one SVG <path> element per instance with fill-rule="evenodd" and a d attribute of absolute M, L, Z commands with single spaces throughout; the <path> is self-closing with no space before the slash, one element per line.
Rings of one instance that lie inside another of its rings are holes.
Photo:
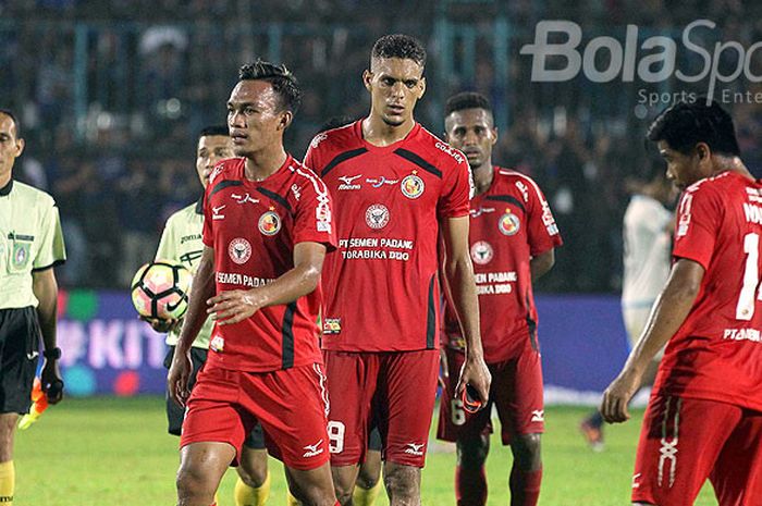
<path fill-rule="evenodd" d="M 261 308 L 293 303 L 318 287 L 324 259 L 324 245 L 297 243 L 293 269 L 266 286 L 233 289 L 210 298 L 207 312 L 219 325 L 229 325 L 249 318 Z"/>

